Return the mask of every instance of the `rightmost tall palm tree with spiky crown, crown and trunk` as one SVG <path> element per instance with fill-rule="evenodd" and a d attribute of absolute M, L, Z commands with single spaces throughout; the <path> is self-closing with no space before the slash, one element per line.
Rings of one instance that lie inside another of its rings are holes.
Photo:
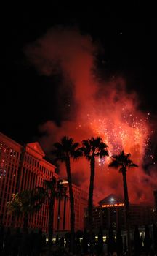
<path fill-rule="evenodd" d="M 129 234 L 129 197 L 128 197 L 128 189 L 127 189 L 127 181 L 126 181 L 126 171 L 130 167 L 138 167 L 138 165 L 134 164 L 134 162 L 129 159 L 131 154 L 124 154 L 124 151 L 121 151 L 118 155 L 113 155 L 111 158 L 112 161 L 108 165 L 108 167 L 119 168 L 119 172 L 122 173 L 123 176 L 123 186 L 124 186 L 124 203 L 125 203 L 125 213 L 126 213 L 126 226 L 127 226 L 127 234 L 128 234 L 128 252 L 129 255 L 131 253 L 130 248 L 130 234 Z"/>

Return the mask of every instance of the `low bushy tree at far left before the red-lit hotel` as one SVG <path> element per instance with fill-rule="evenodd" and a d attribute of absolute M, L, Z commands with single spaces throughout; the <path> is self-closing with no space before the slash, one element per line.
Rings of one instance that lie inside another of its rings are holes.
<path fill-rule="evenodd" d="M 12 194 L 12 200 L 7 202 L 9 214 L 23 215 L 23 230 L 28 230 L 28 217 L 39 211 L 44 203 L 44 189 L 36 187 L 33 190 L 25 190 Z"/>

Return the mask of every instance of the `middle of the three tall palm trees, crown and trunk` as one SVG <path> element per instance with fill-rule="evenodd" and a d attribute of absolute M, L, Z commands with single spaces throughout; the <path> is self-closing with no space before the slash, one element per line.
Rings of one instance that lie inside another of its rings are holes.
<path fill-rule="evenodd" d="M 107 145 L 103 143 L 102 138 L 91 138 L 82 141 L 81 151 L 86 159 L 90 162 L 90 184 L 89 184 L 89 200 L 88 200 L 88 224 L 90 244 L 92 244 L 92 208 L 93 208 L 93 190 L 94 190 L 94 173 L 95 173 L 95 157 L 108 156 Z"/>

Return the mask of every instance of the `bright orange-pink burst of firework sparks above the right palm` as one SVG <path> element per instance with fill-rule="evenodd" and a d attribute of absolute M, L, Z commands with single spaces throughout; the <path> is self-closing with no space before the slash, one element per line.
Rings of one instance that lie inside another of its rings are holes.
<path fill-rule="evenodd" d="M 137 152 L 140 159 L 137 162 L 142 161 L 142 157 L 145 154 L 145 148 L 149 145 L 150 129 L 148 124 L 148 113 L 146 118 L 138 118 L 134 114 L 129 113 L 124 115 L 124 109 L 121 110 L 122 118 L 118 120 L 115 116 L 104 118 L 102 116 L 94 117 L 92 113 L 86 115 L 87 122 L 84 124 L 79 123 L 77 129 L 84 127 L 84 129 L 91 129 L 95 136 L 100 136 L 108 145 L 109 156 L 118 154 L 124 149 L 126 152 L 132 152 L 132 148 L 140 149 Z"/>

